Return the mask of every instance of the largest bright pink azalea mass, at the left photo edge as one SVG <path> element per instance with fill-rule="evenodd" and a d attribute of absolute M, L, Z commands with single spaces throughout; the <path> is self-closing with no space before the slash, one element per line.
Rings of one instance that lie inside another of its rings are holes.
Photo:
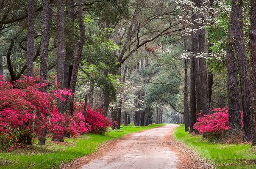
<path fill-rule="evenodd" d="M 40 90 L 46 85 L 53 86 L 47 93 Z M 0 147 L 19 148 L 28 137 L 40 136 L 42 129 L 59 136 L 64 131 L 72 136 L 87 131 L 82 114 L 58 112 L 57 101 L 72 93 L 57 87 L 55 76 L 52 83 L 22 76 L 13 84 L 0 76 Z"/>

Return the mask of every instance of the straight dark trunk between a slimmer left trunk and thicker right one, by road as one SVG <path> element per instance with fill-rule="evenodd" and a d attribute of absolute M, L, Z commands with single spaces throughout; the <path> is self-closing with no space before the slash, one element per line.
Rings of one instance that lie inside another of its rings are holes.
<path fill-rule="evenodd" d="M 196 3 L 196 0 L 193 0 Z M 195 19 L 197 19 L 197 14 L 195 12 L 192 13 L 192 21 L 193 21 L 193 29 L 197 28 L 195 24 Z M 191 41 L 191 52 L 194 55 L 198 53 L 198 34 L 192 33 L 192 41 Z M 194 56 L 190 57 L 190 129 L 189 133 L 195 132 L 194 124 L 196 122 L 196 83 L 195 83 L 195 64 L 196 59 Z"/>

